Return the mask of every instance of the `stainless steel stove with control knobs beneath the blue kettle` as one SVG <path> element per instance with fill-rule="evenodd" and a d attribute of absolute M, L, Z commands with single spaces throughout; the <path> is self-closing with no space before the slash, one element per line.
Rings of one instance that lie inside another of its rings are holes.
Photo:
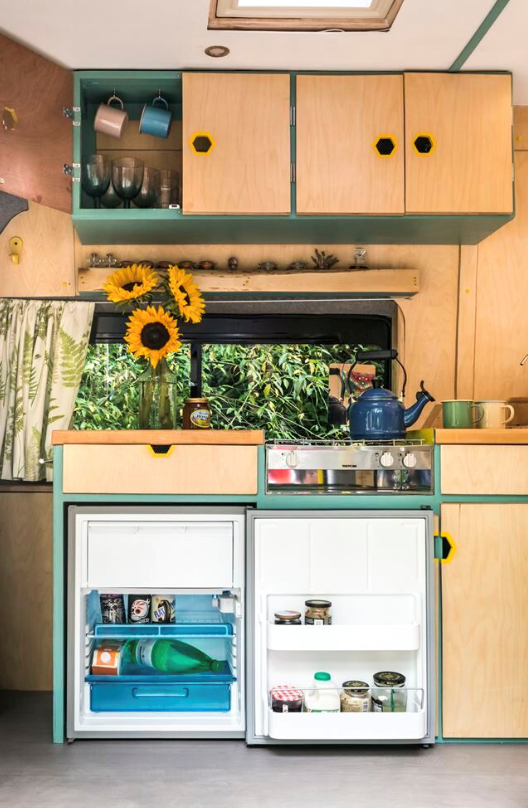
<path fill-rule="evenodd" d="M 272 441 L 266 459 L 269 493 L 433 491 L 433 447 L 421 439 Z"/>

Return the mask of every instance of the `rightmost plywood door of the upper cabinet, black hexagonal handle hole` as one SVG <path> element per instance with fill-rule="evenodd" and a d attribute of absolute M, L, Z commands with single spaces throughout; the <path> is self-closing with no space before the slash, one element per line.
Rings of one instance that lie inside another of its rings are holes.
<path fill-rule="evenodd" d="M 511 76 L 405 74 L 407 213 L 511 213 Z"/>

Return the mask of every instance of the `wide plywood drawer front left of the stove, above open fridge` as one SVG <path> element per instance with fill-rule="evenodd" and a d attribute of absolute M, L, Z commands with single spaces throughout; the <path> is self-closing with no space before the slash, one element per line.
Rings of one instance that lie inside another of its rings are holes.
<path fill-rule="evenodd" d="M 256 494 L 257 446 L 67 445 L 67 494 Z"/>

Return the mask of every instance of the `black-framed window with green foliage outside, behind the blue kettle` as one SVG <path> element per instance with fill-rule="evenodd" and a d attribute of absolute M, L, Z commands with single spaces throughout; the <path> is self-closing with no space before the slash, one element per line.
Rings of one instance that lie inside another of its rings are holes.
<path fill-rule="evenodd" d="M 137 429 L 143 367 L 121 341 L 125 318 L 97 315 L 77 397 L 74 429 Z M 208 315 L 169 360 L 181 407 L 208 398 L 216 429 L 265 429 L 270 439 L 342 434 L 328 417 L 330 365 L 356 348 L 391 346 L 391 318 L 376 315 Z M 390 368 L 378 374 L 390 385 Z M 191 392 L 192 391 L 192 392 Z"/>

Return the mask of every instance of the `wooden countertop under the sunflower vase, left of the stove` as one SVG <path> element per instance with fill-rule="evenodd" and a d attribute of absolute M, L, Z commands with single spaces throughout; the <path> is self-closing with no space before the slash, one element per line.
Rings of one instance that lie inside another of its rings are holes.
<path fill-rule="evenodd" d="M 262 446 L 264 432 L 260 429 L 70 429 L 54 431 L 51 442 L 54 446 L 65 443 Z"/>

